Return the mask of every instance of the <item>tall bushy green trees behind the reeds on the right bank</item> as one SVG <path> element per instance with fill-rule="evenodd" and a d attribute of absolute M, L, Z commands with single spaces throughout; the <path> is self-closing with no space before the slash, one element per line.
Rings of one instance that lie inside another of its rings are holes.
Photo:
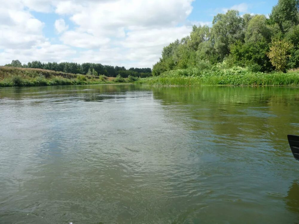
<path fill-rule="evenodd" d="M 228 10 L 212 27 L 193 26 L 190 35 L 163 48 L 153 75 L 168 70 L 213 65 L 252 71 L 286 71 L 299 67 L 299 0 L 279 0 L 269 18 Z"/>

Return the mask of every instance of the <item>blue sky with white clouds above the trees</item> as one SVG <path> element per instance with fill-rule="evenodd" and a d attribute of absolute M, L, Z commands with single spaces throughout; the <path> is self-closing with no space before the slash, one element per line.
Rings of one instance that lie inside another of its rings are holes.
<path fill-rule="evenodd" d="M 152 67 L 193 24 L 236 9 L 268 14 L 277 0 L 0 0 L 0 65 L 95 62 Z"/>

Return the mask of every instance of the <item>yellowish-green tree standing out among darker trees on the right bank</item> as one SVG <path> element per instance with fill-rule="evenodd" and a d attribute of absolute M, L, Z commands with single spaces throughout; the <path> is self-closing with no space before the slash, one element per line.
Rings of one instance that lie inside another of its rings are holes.
<path fill-rule="evenodd" d="M 267 53 L 272 65 L 278 71 L 285 71 L 290 50 L 294 45 L 286 40 L 272 40 L 270 51 Z"/>

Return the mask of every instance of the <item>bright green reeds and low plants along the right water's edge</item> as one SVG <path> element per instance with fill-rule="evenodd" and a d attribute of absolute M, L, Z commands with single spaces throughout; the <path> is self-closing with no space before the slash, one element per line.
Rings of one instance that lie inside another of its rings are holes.
<path fill-rule="evenodd" d="M 197 68 L 170 70 L 160 76 L 140 79 L 143 85 L 299 85 L 299 71 L 287 73 L 252 72 L 246 68 L 234 67 L 222 70 L 199 70 Z"/>

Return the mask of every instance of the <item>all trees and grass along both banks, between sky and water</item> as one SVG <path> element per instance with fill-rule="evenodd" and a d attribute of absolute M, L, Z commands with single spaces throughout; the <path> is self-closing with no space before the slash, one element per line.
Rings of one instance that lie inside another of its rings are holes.
<path fill-rule="evenodd" d="M 143 85 L 299 85 L 299 0 L 279 0 L 269 18 L 251 14 L 241 16 L 237 10 L 217 14 L 212 27 L 194 25 L 189 36 L 164 47 L 152 70 L 126 70 L 118 66 L 69 62 L 33 61 L 22 65 L 19 60 L 13 60 L 6 66 L 25 70 L 5 70 L 2 67 L 0 86 L 111 82 Z M 117 77 L 112 79 L 107 76 Z"/>

